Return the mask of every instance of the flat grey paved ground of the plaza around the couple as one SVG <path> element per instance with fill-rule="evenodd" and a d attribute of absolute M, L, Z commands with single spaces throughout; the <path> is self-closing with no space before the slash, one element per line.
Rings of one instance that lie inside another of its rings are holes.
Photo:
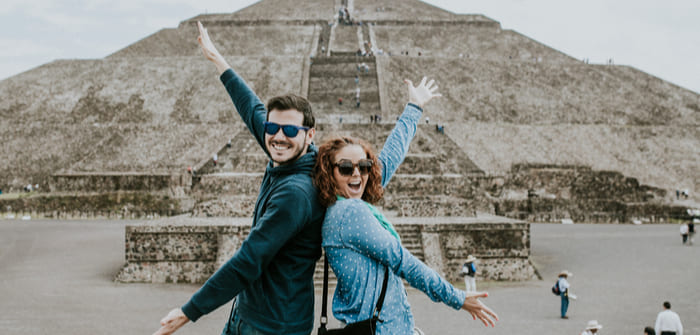
<path fill-rule="evenodd" d="M 127 221 L 0 220 L 0 333 L 150 334 L 197 285 L 119 284 Z M 664 300 L 700 334 L 700 244 L 683 247 L 676 225 L 532 226 L 532 260 L 545 278 L 478 283 L 501 317 L 487 329 L 464 312 L 409 290 L 426 334 L 572 334 L 589 319 L 601 334 L 641 334 Z M 574 273 L 570 319 L 549 291 L 561 269 Z M 318 301 L 318 299 L 317 299 Z M 317 304 L 318 306 L 318 304 Z M 317 307 L 318 310 L 318 307 Z M 319 314 L 319 313 L 317 313 Z M 219 334 L 228 306 L 178 334 Z"/>

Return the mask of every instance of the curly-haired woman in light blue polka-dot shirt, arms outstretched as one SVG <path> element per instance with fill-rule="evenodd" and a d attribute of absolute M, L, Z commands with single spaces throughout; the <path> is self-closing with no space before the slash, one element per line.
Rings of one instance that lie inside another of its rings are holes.
<path fill-rule="evenodd" d="M 314 182 L 321 203 L 328 206 L 323 223 L 323 248 L 338 278 L 333 315 L 350 324 L 371 317 L 389 269 L 386 297 L 377 334 L 413 334 L 414 322 L 401 278 L 433 301 L 464 309 L 486 326 L 497 315 L 478 298 L 487 293 L 457 290 L 401 245 L 391 223 L 370 204 L 382 198 L 383 187 L 403 161 L 416 132 L 423 105 L 434 97 L 434 81 L 408 84 L 409 103 L 377 156 L 361 140 L 332 138 L 319 148 Z M 492 319 L 493 318 L 493 319 Z"/>

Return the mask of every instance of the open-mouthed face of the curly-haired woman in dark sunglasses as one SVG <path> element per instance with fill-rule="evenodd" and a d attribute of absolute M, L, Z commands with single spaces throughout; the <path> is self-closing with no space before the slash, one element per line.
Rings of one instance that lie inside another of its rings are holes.
<path fill-rule="evenodd" d="M 362 199 L 369 177 L 367 172 L 371 169 L 371 165 L 367 168 L 367 164 L 371 164 L 368 162 L 372 161 L 367 159 L 365 150 L 356 144 L 347 145 L 335 154 L 333 177 L 341 196 L 348 199 Z M 348 168 L 350 164 L 352 164 L 351 174 Z"/>

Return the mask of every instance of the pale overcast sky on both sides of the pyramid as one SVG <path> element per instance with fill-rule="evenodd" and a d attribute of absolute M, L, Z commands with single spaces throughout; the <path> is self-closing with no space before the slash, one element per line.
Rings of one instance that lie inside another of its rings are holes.
<path fill-rule="evenodd" d="M 302 1 L 302 0 L 300 0 Z M 381 1 L 381 0 L 377 0 Z M 103 58 L 161 28 L 243 0 L 3 0 L 0 79 L 56 59 Z M 700 93 L 698 0 L 431 0 L 484 14 L 591 63 L 630 65 Z"/>

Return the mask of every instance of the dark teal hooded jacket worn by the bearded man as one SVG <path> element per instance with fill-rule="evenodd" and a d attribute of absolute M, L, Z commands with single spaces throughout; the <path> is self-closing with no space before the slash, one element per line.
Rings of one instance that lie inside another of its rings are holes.
<path fill-rule="evenodd" d="M 265 106 L 233 70 L 221 81 L 238 113 L 265 153 Z M 271 334 L 309 334 L 314 323 L 313 274 L 321 256 L 325 208 L 311 173 L 318 148 L 290 164 L 265 170 L 250 234 L 182 311 L 196 321 L 238 295 L 238 312 Z"/>

